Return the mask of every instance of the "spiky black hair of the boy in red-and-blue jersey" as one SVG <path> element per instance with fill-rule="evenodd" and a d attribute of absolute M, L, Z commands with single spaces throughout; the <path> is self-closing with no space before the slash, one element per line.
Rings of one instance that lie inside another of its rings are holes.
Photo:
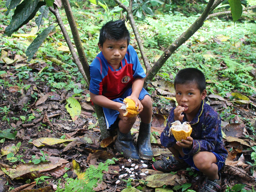
<path fill-rule="evenodd" d="M 127 46 L 130 43 L 130 32 L 125 26 L 125 20 L 110 20 L 106 24 L 104 24 L 100 29 L 100 38 L 99 44 L 103 46 L 103 43 L 107 40 L 120 40 L 125 39 L 127 40 Z"/>

